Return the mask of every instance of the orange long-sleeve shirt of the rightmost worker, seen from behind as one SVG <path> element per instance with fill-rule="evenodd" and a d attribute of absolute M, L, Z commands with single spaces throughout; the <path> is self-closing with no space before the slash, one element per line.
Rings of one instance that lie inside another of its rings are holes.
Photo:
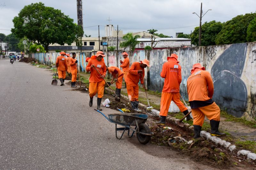
<path fill-rule="evenodd" d="M 213 81 L 211 74 L 202 69 L 195 69 L 188 77 L 187 82 L 188 101 L 207 101 L 213 96 Z"/>

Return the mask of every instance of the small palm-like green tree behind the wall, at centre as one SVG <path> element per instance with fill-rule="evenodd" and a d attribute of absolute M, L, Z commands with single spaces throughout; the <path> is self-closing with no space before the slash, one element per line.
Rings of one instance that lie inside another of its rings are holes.
<path fill-rule="evenodd" d="M 140 35 L 133 36 L 132 33 L 127 33 L 123 36 L 124 41 L 120 43 L 120 47 L 127 48 L 129 47 L 131 51 L 134 51 L 136 45 L 140 43 L 137 39 L 140 38 Z"/>

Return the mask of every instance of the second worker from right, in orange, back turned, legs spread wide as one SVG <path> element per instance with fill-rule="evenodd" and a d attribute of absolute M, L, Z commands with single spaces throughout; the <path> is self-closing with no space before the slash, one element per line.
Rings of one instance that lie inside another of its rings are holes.
<path fill-rule="evenodd" d="M 160 121 L 157 124 L 165 124 L 165 119 L 173 101 L 183 112 L 188 114 L 188 108 L 180 101 L 180 83 L 181 83 L 181 66 L 178 64 L 178 55 L 172 54 L 167 57 L 167 62 L 164 63 L 160 76 L 164 78 L 164 87 L 160 103 Z M 190 115 L 186 117 L 187 121 L 192 119 Z"/>

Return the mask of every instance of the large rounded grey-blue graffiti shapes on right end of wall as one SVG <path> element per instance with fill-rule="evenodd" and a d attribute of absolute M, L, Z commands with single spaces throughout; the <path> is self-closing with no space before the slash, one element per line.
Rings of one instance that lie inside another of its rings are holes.
<path fill-rule="evenodd" d="M 211 69 L 214 82 L 213 100 L 236 117 L 244 115 L 247 88 L 241 80 L 247 44 L 232 44 L 215 61 Z"/>

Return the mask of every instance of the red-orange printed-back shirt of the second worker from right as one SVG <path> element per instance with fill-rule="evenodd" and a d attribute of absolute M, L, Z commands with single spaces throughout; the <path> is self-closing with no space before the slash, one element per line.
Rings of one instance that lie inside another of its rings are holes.
<path fill-rule="evenodd" d="M 160 76 L 164 78 L 162 92 L 180 92 L 181 66 L 175 58 L 170 58 L 164 63 Z"/>

